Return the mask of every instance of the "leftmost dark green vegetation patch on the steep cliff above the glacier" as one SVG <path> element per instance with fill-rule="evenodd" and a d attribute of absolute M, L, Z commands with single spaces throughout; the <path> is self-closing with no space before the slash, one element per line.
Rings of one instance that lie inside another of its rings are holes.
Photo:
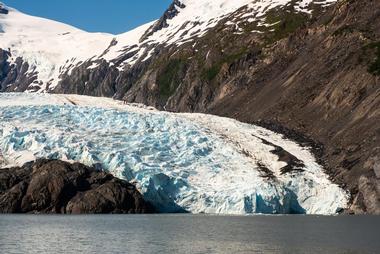
<path fill-rule="evenodd" d="M 183 59 L 171 59 L 159 73 L 157 84 L 162 99 L 168 99 L 177 90 L 181 78 L 186 70 L 186 62 Z"/>

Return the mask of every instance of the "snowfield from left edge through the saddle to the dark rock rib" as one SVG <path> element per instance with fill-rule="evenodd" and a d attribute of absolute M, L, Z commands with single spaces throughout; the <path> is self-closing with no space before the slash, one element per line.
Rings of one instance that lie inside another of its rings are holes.
<path fill-rule="evenodd" d="M 36 84 L 41 83 L 40 92 L 46 91 L 49 83 L 49 89 L 53 89 L 61 74 L 70 73 L 83 62 L 99 59 L 111 62 L 128 47 L 137 46 L 140 37 L 152 24 L 147 23 L 120 35 L 89 33 L 13 8 L 7 9 L 9 14 L 0 14 L 0 48 L 10 50 L 11 65 L 18 57 L 29 64 L 28 72 L 37 73 L 38 77 L 31 87 L 35 89 Z M 113 41 L 116 45 L 111 46 Z M 139 56 L 141 54 L 136 57 Z"/>

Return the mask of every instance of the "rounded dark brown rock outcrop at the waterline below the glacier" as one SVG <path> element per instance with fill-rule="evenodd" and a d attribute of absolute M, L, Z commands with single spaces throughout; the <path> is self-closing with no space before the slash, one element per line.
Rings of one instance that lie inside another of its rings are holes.
<path fill-rule="evenodd" d="M 0 169 L 0 213 L 150 213 L 136 187 L 85 165 L 38 160 Z"/>

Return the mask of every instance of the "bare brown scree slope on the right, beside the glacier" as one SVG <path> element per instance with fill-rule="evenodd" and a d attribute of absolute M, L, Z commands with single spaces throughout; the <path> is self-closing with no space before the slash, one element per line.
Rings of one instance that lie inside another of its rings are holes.
<path fill-rule="evenodd" d="M 379 43 L 380 2 L 339 2 L 228 75 L 207 111 L 311 138 L 353 211 L 380 213 Z"/>

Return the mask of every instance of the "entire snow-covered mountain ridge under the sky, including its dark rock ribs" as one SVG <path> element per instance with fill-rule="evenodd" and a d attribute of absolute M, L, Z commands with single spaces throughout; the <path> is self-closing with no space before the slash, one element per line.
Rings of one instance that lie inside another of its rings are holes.
<path fill-rule="evenodd" d="M 4 51 L 3 69 L 11 74 L 0 77 L 1 90 L 53 91 L 63 76 L 72 75 L 81 65 L 95 69 L 106 60 L 121 71 L 147 61 L 159 46 L 189 43 L 220 24 L 241 33 L 240 25 L 247 22 L 258 27 L 273 25 L 267 22 L 266 13 L 276 8 L 293 6 L 298 12 L 310 13 L 310 6 L 332 2 L 335 0 L 175 0 L 161 19 L 120 35 L 87 33 L 3 6 L 7 11 L 0 13 L 0 49 Z"/>

